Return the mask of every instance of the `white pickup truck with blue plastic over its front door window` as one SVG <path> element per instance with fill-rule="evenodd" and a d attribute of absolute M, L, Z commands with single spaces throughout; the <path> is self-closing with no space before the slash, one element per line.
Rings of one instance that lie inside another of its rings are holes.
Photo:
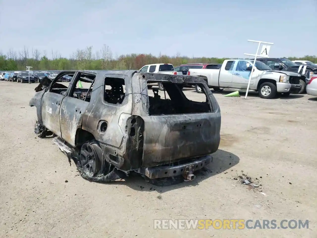
<path fill-rule="evenodd" d="M 190 69 L 191 76 L 204 78 L 210 88 L 218 91 L 220 88 L 246 90 L 252 70 L 252 60 L 225 60 L 220 69 Z M 256 91 L 262 98 L 274 98 L 277 93 L 288 96 L 298 93 L 301 75 L 294 72 L 272 70 L 266 64 L 256 61 L 250 82 L 250 91 Z M 196 85 L 196 91 L 202 89 Z"/>

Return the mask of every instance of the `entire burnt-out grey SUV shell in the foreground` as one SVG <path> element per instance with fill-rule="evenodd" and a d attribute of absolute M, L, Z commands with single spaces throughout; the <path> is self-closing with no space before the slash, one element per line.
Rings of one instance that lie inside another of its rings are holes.
<path fill-rule="evenodd" d="M 72 76 L 68 87 L 56 83 L 64 75 Z M 218 149 L 220 108 L 200 77 L 68 70 L 49 85 L 48 80 L 29 102 L 36 107 L 35 132 L 39 137 L 54 133 L 62 151 L 75 151 L 86 178 L 117 169 L 149 179 L 192 180 L 193 171 L 209 164 Z M 78 81 L 90 86 L 77 87 Z M 147 88 L 150 83 L 163 83 L 164 98 Z M 205 100 L 187 99 L 182 84 L 199 84 Z"/>

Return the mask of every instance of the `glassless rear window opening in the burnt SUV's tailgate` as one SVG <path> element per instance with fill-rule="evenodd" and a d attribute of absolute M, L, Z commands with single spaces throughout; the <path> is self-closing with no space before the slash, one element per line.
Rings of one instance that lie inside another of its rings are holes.
<path fill-rule="evenodd" d="M 187 93 L 187 88 L 183 89 L 185 93 L 182 91 L 182 87 L 179 87 L 182 84 L 158 81 L 147 81 L 147 83 L 162 83 L 164 87 L 163 91 L 154 87 L 148 89 L 150 116 L 212 112 L 212 106 L 206 96 L 203 84 L 198 85 L 204 93 L 191 96 Z M 196 84 L 186 83 L 186 87 L 190 85 Z M 188 88 L 188 90 L 193 89 Z"/>

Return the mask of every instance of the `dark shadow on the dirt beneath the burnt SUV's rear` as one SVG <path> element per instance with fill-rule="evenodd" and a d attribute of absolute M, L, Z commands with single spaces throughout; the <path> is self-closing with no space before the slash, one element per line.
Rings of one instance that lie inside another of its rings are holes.
<path fill-rule="evenodd" d="M 116 181 L 107 184 L 122 184 L 137 191 L 157 191 L 159 193 L 164 193 L 178 188 L 197 186 L 199 182 L 208 179 L 213 175 L 223 173 L 224 171 L 235 166 L 240 161 L 237 155 L 221 149 L 218 149 L 212 154 L 212 156 L 212 162 L 205 169 L 196 171 L 196 179 L 190 182 L 181 182 L 175 185 L 161 187 L 146 182 L 145 179 L 137 173 L 131 173 L 131 175 L 125 181 Z"/>

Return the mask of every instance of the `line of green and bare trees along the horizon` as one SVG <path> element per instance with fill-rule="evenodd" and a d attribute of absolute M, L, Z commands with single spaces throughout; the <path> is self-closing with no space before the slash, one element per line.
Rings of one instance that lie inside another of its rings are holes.
<path fill-rule="evenodd" d="M 49 56 L 52 56 L 49 58 Z M 110 47 L 103 45 L 101 50 L 93 51 L 93 47 L 77 50 L 70 58 L 61 57 L 58 52 L 40 52 L 37 49 L 24 47 L 22 51 L 9 50 L 7 54 L 0 53 L 0 70 L 25 70 L 32 66 L 32 70 L 66 70 L 66 69 L 135 69 L 138 70 L 146 64 L 171 63 L 175 67 L 185 63 L 223 63 L 230 58 L 215 57 L 187 57 L 179 53 L 175 56 L 152 54 L 127 54 L 113 56 Z M 309 60 L 317 63 L 317 56 L 288 57 L 290 60 Z"/>

